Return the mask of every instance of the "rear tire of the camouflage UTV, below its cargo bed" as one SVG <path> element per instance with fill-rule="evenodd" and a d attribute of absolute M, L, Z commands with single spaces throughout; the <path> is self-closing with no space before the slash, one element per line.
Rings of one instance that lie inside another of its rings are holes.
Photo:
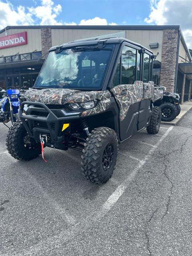
<path fill-rule="evenodd" d="M 155 106 L 151 116 L 150 124 L 147 126 L 147 132 L 149 134 L 157 134 L 160 129 L 161 122 L 161 109 Z"/>

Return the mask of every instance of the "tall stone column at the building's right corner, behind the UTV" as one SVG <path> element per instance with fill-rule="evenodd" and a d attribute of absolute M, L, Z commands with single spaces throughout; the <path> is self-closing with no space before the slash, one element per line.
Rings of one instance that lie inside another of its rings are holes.
<path fill-rule="evenodd" d="M 163 30 L 160 85 L 174 92 L 179 51 L 179 31 Z"/>

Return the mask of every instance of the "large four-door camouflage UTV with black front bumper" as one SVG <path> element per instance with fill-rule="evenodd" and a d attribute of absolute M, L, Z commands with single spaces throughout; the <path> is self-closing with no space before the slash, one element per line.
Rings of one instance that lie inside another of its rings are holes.
<path fill-rule="evenodd" d="M 144 128 L 160 129 L 154 102 L 153 53 L 124 38 L 82 40 L 52 47 L 25 94 L 7 136 L 8 152 L 32 160 L 45 146 L 82 151 L 82 172 L 95 183 L 112 176 L 118 144 Z M 24 114 L 25 113 L 25 114 Z M 44 158 L 44 156 L 43 156 Z"/>

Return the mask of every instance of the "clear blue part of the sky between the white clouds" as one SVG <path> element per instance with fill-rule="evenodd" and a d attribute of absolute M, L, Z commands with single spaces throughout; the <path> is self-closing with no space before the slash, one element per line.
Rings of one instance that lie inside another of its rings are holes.
<path fill-rule="evenodd" d="M 6 2 L 6 1 L 2 1 Z M 10 0 L 14 7 L 40 6 L 41 0 Z M 57 16 L 58 22 L 75 22 L 88 20 L 94 17 L 105 18 L 108 23 L 118 25 L 145 24 L 144 18 L 150 14 L 150 1 L 148 0 L 54 0 L 54 5 L 60 4 L 62 12 Z M 39 20 L 35 21 L 39 24 Z"/>

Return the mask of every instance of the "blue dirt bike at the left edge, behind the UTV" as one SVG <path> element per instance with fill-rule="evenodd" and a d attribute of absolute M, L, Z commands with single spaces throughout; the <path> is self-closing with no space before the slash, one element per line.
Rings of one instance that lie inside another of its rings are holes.
<path fill-rule="evenodd" d="M 19 119 L 18 110 L 20 108 L 19 90 L 4 91 L 3 98 L 0 99 L 0 122 L 7 123 L 11 120 L 12 124 Z M 6 125 L 6 124 L 5 124 Z"/>

